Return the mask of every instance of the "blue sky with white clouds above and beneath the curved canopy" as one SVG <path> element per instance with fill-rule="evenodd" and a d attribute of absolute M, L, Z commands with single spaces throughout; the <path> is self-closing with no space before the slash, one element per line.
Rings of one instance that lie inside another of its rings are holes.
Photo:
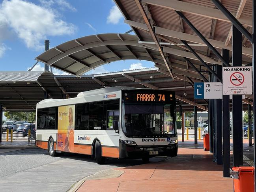
<path fill-rule="evenodd" d="M 34 65 L 50 47 L 92 34 L 124 33 L 130 26 L 112 0 L 0 0 L 1 71 L 22 71 Z M 153 67 L 152 62 L 126 60 L 103 65 L 89 73 Z M 43 63 L 35 70 L 43 70 Z M 55 74 L 62 74 L 54 70 Z"/>

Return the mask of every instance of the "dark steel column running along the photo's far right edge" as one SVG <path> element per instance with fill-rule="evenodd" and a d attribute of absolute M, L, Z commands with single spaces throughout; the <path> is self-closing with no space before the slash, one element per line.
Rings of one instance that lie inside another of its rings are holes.
<path fill-rule="evenodd" d="M 253 82 L 253 139 L 254 139 L 254 143 L 255 143 L 255 127 L 256 127 L 256 118 L 255 118 L 255 114 L 256 114 L 256 47 L 255 47 L 255 39 L 256 39 L 256 0 L 252 1 L 252 82 Z M 256 166 L 256 147 L 255 144 L 253 145 L 253 149 L 254 149 L 254 168 Z M 256 191 L 256 174 L 254 173 L 254 191 Z"/>

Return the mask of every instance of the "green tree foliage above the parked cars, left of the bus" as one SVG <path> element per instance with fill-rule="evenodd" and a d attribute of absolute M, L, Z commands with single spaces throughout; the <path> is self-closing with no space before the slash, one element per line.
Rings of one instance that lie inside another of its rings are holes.
<path fill-rule="evenodd" d="M 4 116 L 6 116 L 7 119 L 13 120 L 13 121 L 36 121 L 36 112 L 4 112 Z"/>

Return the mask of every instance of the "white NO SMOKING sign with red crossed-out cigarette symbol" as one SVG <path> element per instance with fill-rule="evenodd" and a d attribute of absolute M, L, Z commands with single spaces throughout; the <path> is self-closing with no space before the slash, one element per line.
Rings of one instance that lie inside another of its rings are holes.
<path fill-rule="evenodd" d="M 252 67 L 223 67 L 223 95 L 251 95 Z"/>

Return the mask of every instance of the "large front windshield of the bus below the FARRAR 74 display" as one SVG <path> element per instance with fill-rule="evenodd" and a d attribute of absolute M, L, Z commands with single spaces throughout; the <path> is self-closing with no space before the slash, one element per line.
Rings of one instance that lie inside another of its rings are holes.
<path fill-rule="evenodd" d="M 176 134 L 170 104 L 123 104 L 123 132 L 130 137 Z"/>

